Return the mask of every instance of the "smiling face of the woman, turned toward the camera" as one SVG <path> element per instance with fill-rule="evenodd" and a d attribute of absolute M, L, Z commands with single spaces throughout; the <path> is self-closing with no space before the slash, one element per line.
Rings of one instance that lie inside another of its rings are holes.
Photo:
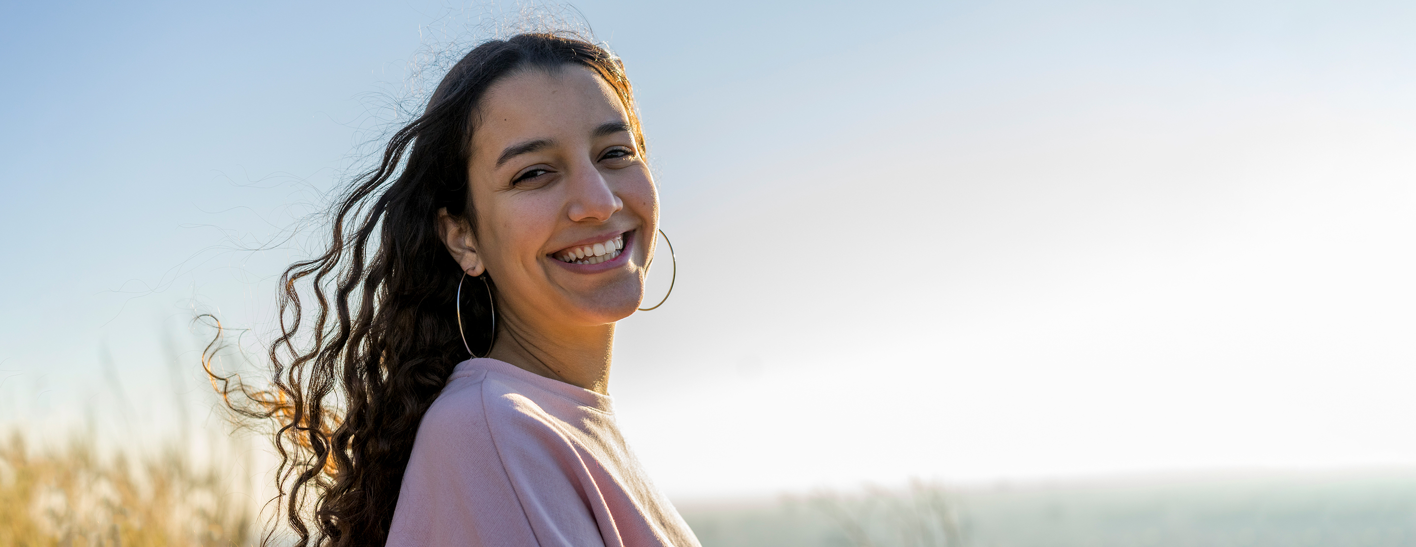
<path fill-rule="evenodd" d="M 467 164 L 477 235 L 449 239 L 523 322 L 605 325 L 634 312 L 658 194 L 623 103 L 579 65 L 525 69 L 484 95 Z M 449 227 L 445 220 L 445 228 Z"/>

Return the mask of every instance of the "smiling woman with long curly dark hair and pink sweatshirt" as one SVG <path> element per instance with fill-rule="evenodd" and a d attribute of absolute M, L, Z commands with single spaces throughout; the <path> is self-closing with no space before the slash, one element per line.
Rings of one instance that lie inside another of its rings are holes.
<path fill-rule="evenodd" d="M 282 279 L 262 412 L 299 544 L 698 544 L 606 395 L 658 230 L 616 57 L 479 45 L 334 213 Z"/>

